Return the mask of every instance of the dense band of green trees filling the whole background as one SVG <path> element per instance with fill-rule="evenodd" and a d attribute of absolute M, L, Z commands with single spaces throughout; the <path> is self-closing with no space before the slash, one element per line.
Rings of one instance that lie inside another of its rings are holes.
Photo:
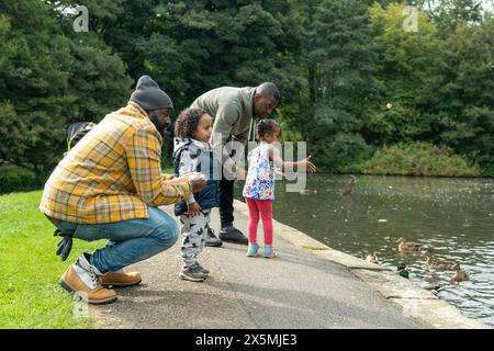
<path fill-rule="evenodd" d="M 0 0 L 0 166 L 46 177 L 67 125 L 100 121 L 147 73 L 177 112 L 220 86 L 276 82 L 283 137 L 306 140 L 321 169 L 422 141 L 494 174 L 494 19 L 481 0 L 413 1 L 416 31 L 401 1 L 88 0 L 89 32 L 76 33 L 78 3 Z"/>

